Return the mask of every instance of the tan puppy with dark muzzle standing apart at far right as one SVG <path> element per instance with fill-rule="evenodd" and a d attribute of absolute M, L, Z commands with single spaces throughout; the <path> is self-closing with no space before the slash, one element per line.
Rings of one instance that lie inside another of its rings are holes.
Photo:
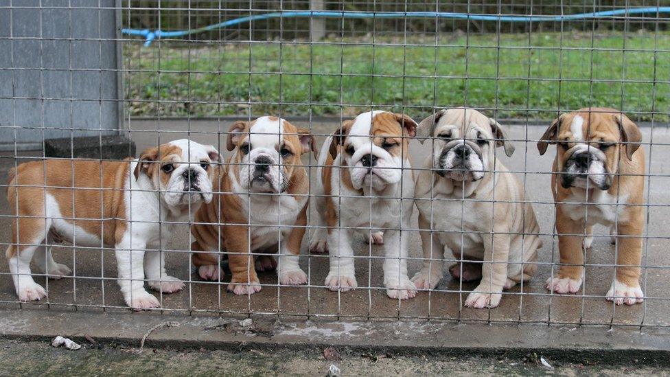
<path fill-rule="evenodd" d="M 614 304 L 643 301 L 640 288 L 645 152 L 642 134 L 613 108 L 581 108 L 563 114 L 538 142 L 540 155 L 556 144 L 551 192 L 561 266 L 546 288 L 575 293 L 584 278 L 584 250 L 596 224 L 610 227 L 616 239 L 616 276 L 607 293 Z M 579 236 L 584 235 L 584 236 Z M 619 236 L 619 237 L 616 237 Z"/>

